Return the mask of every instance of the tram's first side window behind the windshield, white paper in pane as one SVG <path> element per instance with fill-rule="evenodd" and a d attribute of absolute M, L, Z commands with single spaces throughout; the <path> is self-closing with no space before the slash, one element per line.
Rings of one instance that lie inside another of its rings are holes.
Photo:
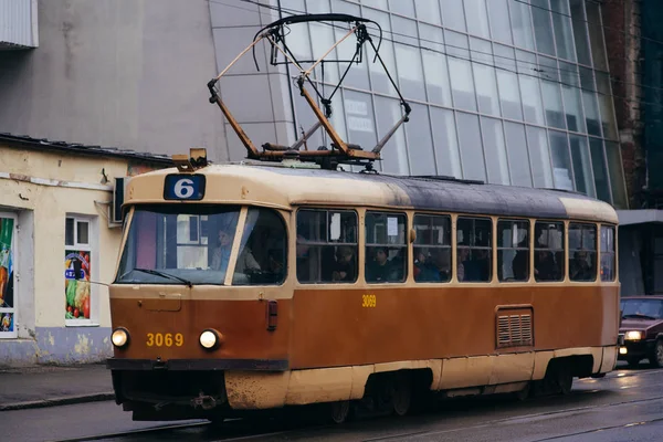
<path fill-rule="evenodd" d="M 305 284 L 357 281 L 357 212 L 297 212 L 297 281 Z"/>

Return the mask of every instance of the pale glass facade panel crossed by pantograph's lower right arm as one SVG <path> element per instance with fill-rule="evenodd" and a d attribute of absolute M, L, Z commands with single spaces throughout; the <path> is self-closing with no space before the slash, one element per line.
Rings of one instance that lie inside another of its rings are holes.
<path fill-rule="evenodd" d="M 376 95 L 376 113 L 378 114 L 378 130 L 380 138 L 393 127 L 402 116 L 400 103 L 392 98 L 385 98 Z M 408 167 L 408 150 L 406 148 L 406 133 L 403 127 L 412 120 L 404 123 L 382 148 L 381 168 L 387 173 L 410 175 Z M 365 148 L 366 149 L 366 148 Z"/>

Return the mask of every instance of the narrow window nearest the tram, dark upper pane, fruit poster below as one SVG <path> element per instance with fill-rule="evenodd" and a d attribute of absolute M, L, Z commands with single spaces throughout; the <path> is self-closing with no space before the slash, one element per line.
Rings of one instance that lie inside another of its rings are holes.
<path fill-rule="evenodd" d="M 64 317 L 67 325 L 91 320 L 92 220 L 67 217 L 64 230 Z"/>

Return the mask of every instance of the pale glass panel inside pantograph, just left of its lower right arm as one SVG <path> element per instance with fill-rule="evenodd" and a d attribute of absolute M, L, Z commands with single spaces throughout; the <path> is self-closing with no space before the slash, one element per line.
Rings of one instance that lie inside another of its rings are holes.
<path fill-rule="evenodd" d="M 371 96 L 344 90 L 344 104 L 348 124 L 348 140 L 370 150 L 377 144 Z M 399 117 L 400 118 L 400 117 Z"/>

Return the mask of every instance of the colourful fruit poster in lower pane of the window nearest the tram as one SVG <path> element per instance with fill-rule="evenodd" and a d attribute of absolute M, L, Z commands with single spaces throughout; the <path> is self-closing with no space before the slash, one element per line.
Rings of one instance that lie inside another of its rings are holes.
<path fill-rule="evenodd" d="M 90 252 L 65 251 L 65 319 L 90 319 Z"/>

